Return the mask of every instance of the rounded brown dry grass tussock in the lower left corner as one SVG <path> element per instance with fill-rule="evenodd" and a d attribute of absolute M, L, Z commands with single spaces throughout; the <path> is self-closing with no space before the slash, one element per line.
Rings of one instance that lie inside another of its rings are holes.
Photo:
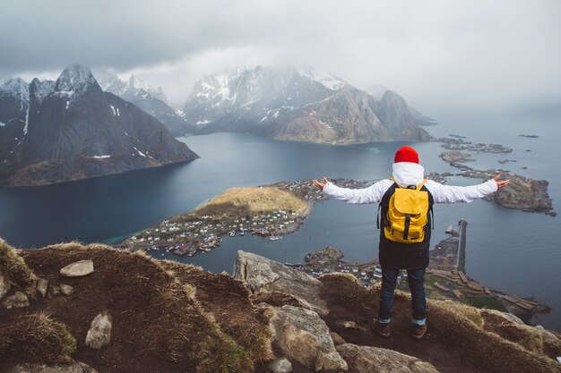
<path fill-rule="evenodd" d="M 68 362 L 76 340 L 65 324 L 46 312 L 20 315 L 0 326 L 0 357 L 22 353 L 28 362 Z"/>

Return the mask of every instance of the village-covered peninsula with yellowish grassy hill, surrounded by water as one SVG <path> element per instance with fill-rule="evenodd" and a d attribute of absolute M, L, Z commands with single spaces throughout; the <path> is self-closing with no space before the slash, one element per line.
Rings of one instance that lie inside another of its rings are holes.
<path fill-rule="evenodd" d="M 333 182 L 350 188 L 367 185 L 350 179 Z M 194 256 L 220 246 L 225 235 L 256 234 L 272 241 L 281 240 L 284 234 L 298 230 L 315 201 L 327 198 L 311 180 L 232 189 L 189 214 L 174 216 L 134 234 L 118 246 Z"/>

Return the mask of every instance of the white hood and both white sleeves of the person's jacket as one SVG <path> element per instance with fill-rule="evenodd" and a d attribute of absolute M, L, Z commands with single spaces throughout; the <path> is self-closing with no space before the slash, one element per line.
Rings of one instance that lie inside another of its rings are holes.
<path fill-rule="evenodd" d="M 422 165 L 409 162 L 393 164 L 393 179 L 401 187 L 419 185 L 425 177 L 425 168 Z M 332 182 L 324 186 L 324 193 L 347 203 L 378 203 L 393 184 L 389 179 L 381 180 L 363 189 L 340 188 Z M 471 186 L 443 185 L 439 182 L 427 180 L 427 190 L 432 194 L 435 203 L 471 202 L 495 192 L 498 187 L 494 180 Z"/>

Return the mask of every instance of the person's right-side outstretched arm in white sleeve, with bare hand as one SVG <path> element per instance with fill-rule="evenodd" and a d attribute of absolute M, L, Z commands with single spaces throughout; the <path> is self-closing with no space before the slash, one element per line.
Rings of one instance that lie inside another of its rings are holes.
<path fill-rule="evenodd" d="M 470 186 L 450 186 L 438 182 L 427 181 L 427 188 L 432 193 L 436 203 L 471 202 L 474 199 L 481 199 L 508 185 L 508 180 L 500 181 L 500 174 L 497 174 L 488 182 Z"/>

